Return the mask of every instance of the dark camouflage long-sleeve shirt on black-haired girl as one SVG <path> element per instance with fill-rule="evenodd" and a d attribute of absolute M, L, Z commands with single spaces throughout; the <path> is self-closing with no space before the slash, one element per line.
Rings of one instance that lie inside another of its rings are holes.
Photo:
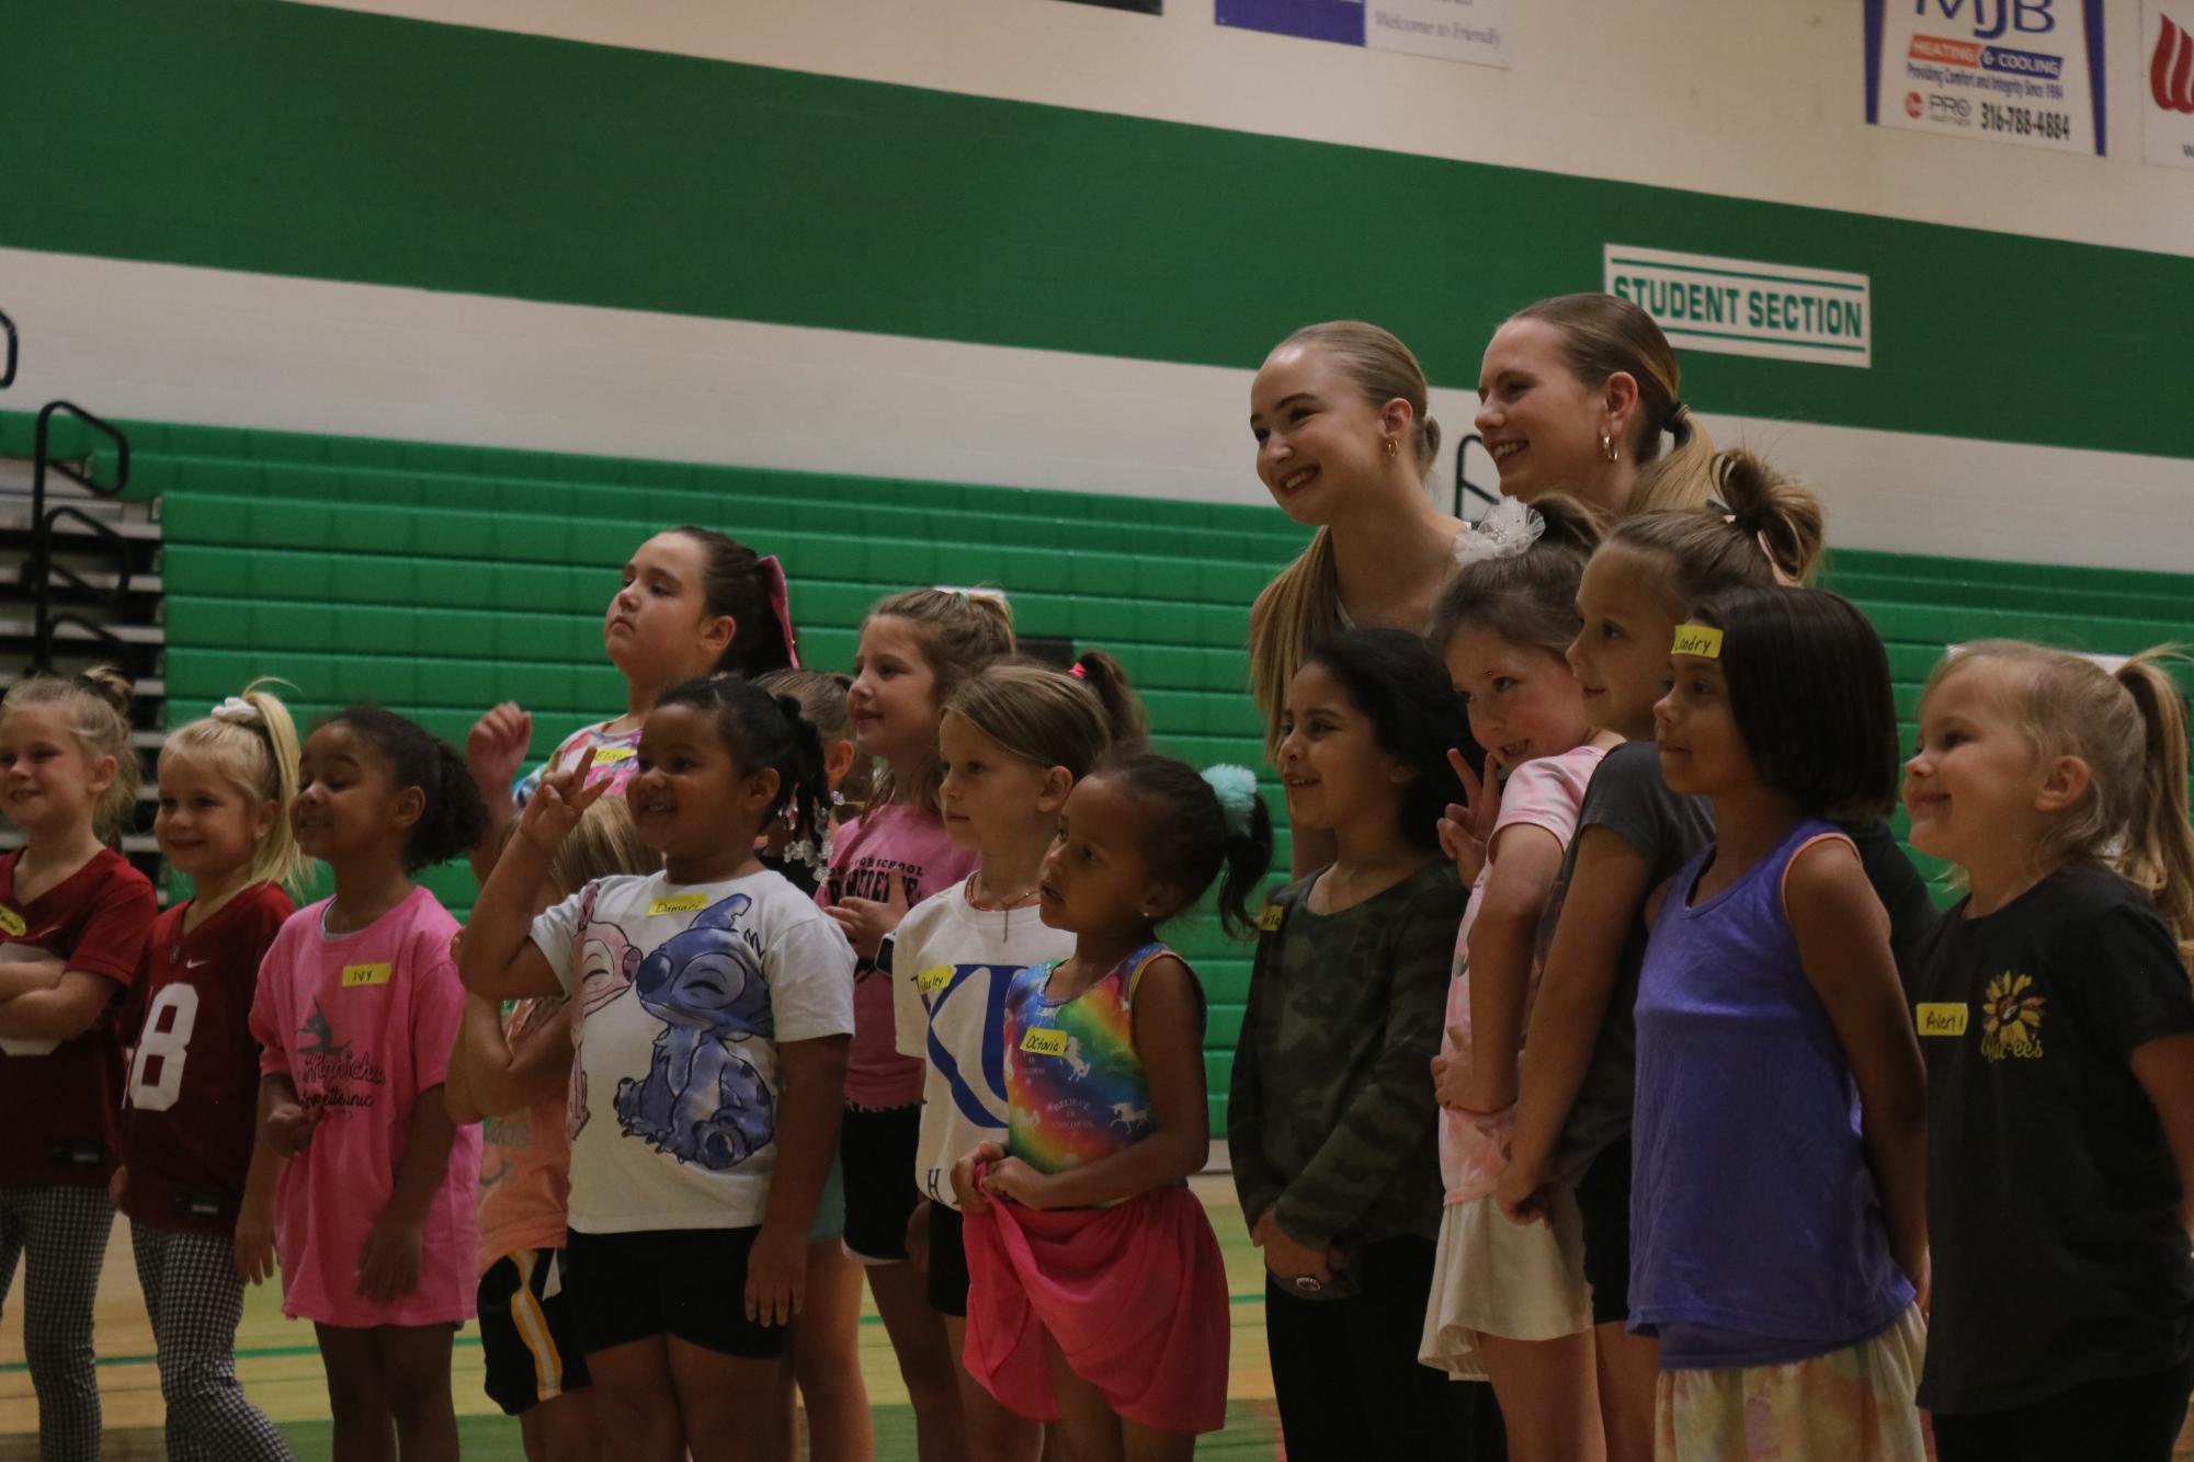
<path fill-rule="evenodd" d="M 1299 1243 L 1439 1236 L 1430 1061 L 1468 892 L 1435 859 L 1332 916 L 1273 894 L 1242 1015 L 1226 1144 L 1251 1223 Z M 1277 910 L 1277 912 L 1275 912 Z"/>

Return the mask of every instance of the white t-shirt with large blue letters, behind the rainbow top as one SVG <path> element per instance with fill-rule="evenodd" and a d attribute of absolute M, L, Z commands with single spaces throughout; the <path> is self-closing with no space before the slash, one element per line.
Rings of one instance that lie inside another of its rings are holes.
<path fill-rule="evenodd" d="M 968 881 L 924 899 L 891 938 L 893 1024 L 902 1056 L 924 1056 L 915 1186 L 952 1199 L 952 1164 L 1005 1140 L 1005 991 L 1029 964 L 1064 960 L 1075 936 L 1036 910 L 979 910 Z"/>

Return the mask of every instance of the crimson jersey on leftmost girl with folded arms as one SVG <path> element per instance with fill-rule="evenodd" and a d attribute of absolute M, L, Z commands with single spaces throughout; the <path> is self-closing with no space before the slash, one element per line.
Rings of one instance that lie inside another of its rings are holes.
<path fill-rule="evenodd" d="M 99 1019 L 68 1041 L 0 1041 L 0 1184 L 105 1184 L 114 1173 L 114 1111 L 123 1087 L 123 993 L 138 975 L 160 912 L 145 875 L 112 848 L 31 901 L 15 899 L 15 864 L 0 857 L 0 947 L 59 956 L 114 982 Z"/>

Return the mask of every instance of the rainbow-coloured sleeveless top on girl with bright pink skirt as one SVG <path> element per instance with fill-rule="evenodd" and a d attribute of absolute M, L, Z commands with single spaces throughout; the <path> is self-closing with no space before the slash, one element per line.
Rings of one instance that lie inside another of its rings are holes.
<path fill-rule="evenodd" d="M 1064 964 L 1031 964 L 1005 993 L 1007 1151 L 1038 1173 L 1110 1157 L 1152 1133 L 1134 1052 L 1134 984 L 1165 945 L 1143 945 L 1064 1004 L 1044 991 Z"/>

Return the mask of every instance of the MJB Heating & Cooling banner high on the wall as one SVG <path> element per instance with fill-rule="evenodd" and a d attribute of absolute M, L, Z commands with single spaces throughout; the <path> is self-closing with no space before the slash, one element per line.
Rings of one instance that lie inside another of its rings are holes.
<path fill-rule="evenodd" d="M 2104 0 L 1867 0 L 1867 121 L 2104 151 Z"/>

